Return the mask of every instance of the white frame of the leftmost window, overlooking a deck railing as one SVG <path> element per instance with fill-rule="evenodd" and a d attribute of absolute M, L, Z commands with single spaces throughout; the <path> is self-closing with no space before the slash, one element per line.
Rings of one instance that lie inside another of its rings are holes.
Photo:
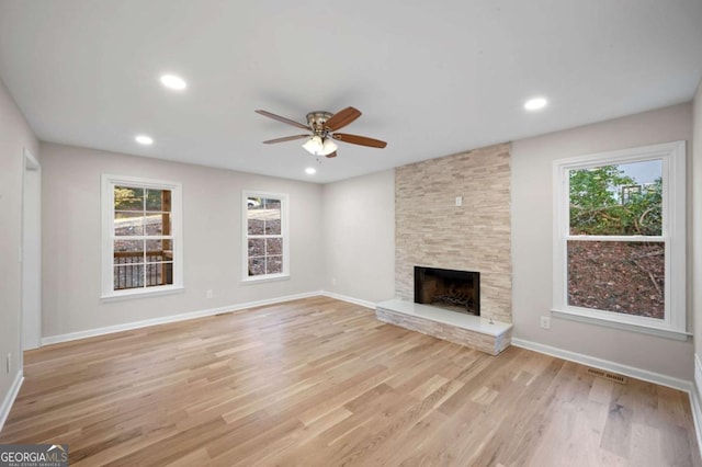
<path fill-rule="evenodd" d="M 102 299 L 137 298 L 183 289 L 182 186 L 178 182 L 126 175 L 102 175 Z M 173 238 L 173 283 L 151 287 L 114 289 L 114 187 L 134 186 L 171 192 L 171 236 Z"/>

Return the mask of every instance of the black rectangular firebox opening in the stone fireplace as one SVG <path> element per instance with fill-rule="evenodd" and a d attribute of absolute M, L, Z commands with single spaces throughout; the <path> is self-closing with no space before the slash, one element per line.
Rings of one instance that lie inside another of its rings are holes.
<path fill-rule="evenodd" d="M 415 266 L 415 303 L 480 316 L 480 273 Z"/>

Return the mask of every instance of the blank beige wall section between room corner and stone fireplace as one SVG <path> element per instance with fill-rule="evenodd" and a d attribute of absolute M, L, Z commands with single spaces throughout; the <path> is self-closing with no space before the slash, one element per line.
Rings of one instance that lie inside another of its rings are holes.
<path fill-rule="evenodd" d="M 367 301 L 395 296 L 393 170 L 322 187 L 327 292 Z"/>

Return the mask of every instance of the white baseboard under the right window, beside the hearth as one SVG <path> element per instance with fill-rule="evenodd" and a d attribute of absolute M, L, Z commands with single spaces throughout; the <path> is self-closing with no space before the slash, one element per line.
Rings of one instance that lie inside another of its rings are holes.
<path fill-rule="evenodd" d="M 647 369 L 636 368 L 634 366 L 622 365 L 609 360 L 597 358 L 563 349 L 552 348 L 551 345 L 540 344 L 537 342 L 524 341 L 522 339 L 512 338 L 512 345 L 532 350 L 534 352 L 544 353 L 546 355 L 557 356 L 569 362 L 580 363 L 582 365 L 592 366 L 595 368 L 605 369 L 619 373 L 644 381 L 655 383 L 661 386 L 668 386 L 673 389 L 680 389 L 688 394 L 692 394 L 693 385 L 691 381 L 672 376 L 661 375 L 659 373 L 649 372 Z"/>

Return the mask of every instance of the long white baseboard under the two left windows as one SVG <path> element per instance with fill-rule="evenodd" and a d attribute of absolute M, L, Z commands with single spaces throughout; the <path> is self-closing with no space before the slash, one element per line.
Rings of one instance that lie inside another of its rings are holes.
<path fill-rule="evenodd" d="M 42 345 L 57 344 L 60 342 L 69 342 L 78 339 L 94 338 L 97 335 L 111 334 L 113 332 L 131 331 L 133 329 L 146 328 L 149 326 L 166 324 L 168 322 L 185 321 L 188 319 L 203 318 L 206 316 L 218 315 L 220 312 L 239 311 L 248 308 L 256 308 L 265 305 L 275 305 L 283 301 L 297 300 L 301 298 L 317 297 L 322 295 L 321 292 L 307 292 L 304 294 L 287 295 L 284 297 L 267 298 L 264 300 L 249 301 L 246 304 L 229 305 L 225 307 L 208 308 L 199 311 L 184 312 L 181 315 L 165 316 L 161 318 L 145 319 L 141 321 L 125 322 L 123 324 L 107 326 L 104 328 L 89 329 L 86 331 L 69 332 L 67 334 L 48 335 L 42 338 Z"/>

